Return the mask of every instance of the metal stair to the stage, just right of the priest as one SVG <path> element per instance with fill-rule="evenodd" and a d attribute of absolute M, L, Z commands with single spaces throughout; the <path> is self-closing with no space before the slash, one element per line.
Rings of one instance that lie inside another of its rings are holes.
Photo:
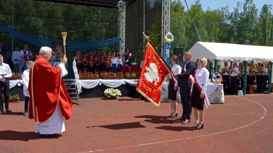
<path fill-rule="evenodd" d="M 70 96 L 70 99 L 77 100 L 77 103 L 75 103 L 75 104 L 79 105 L 79 94 L 77 92 L 75 80 L 74 79 L 64 79 L 64 83 L 65 83 L 66 90 Z"/>

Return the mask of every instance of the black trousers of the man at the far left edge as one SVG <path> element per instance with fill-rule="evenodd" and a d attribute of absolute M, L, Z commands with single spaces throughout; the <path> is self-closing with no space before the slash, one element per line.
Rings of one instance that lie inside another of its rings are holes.
<path fill-rule="evenodd" d="M 3 90 L 4 89 L 4 90 Z M 5 82 L 0 82 L 0 110 L 4 110 L 2 95 L 4 94 L 5 97 L 5 108 L 6 110 L 9 109 L 9 103 L 10 103 L 10 81 L 9 79 L 6 79 Z"/>

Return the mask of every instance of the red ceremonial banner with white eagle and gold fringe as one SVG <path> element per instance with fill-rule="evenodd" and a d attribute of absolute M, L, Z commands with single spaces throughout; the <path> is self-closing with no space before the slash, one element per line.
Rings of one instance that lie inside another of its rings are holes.
<path fill-rule="evenodd" d="M 168 73 L 169 70 L 163 59 L 157 54 L 155 48 L 148 43 L 136 91 L 154 105 L 159 106 L 162 83 Z"/>

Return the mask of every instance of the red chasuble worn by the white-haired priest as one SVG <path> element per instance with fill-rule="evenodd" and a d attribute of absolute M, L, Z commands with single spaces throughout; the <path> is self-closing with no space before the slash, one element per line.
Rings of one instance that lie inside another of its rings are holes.
<path fill-rule="evenodd" d="M 60 103 L 65 119 L 72 116 L 72 101 L 61 77 L 61 67 L 53 67 L 45 58 L 36 56 L 29 72 L 29 118 L 47 121 Z"/>

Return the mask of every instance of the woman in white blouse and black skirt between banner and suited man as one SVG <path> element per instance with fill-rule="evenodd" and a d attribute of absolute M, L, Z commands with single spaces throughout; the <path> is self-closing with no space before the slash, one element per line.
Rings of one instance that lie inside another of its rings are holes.
<path fill-rule="evenodd" d="M 172 55 L 170 57 L 170 62 L 172 64 L 171 71 L 175 74 L 181 73 L 181 66 L 179 66 L 179 59 L 176 55 Z M 177 117 L 177 91 L 178 90 L 178 80 L 177 78 L 174 78 L 172 73 L 169 75 L 169 86 L 168 86 L 168 99 L 170 100 L 171 105 L 171 113 L 168 117 L 174 118 Z M 178 94 L 179 95 L 179 94 Z"/>

